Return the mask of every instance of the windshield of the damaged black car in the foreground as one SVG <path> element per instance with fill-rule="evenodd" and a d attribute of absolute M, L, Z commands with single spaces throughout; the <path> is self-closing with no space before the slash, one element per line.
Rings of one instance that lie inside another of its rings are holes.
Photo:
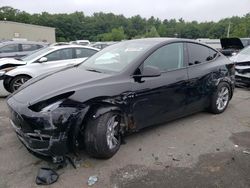
<path fill-rule="evenodd" d="M 96 53 L 80 67 L 99 72 L 120 72 L 155 43 L 145 40 L 120 42 Z"/>

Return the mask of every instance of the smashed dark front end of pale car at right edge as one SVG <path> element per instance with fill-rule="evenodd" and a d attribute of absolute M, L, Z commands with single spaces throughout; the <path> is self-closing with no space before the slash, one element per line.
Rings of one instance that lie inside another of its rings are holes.
<path fill-rule="evenodd" d="M 236 63 L 235 80 L 238 87 L 250 87 L 250 61 Z"/>

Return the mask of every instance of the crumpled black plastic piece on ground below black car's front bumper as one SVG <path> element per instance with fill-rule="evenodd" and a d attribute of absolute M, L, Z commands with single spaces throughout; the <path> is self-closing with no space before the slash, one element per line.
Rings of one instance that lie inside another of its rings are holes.
<path fill-rule="evenodd" d="M 50 185 L 55 183 L 59 178 L 56 171 L 50 168 L 40 168 L 36 177 L 37 185 Z"/>

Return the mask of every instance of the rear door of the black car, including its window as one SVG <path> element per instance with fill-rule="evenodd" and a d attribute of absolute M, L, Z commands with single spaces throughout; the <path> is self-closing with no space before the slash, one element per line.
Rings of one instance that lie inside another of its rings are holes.
<path fill-rule="evenodd" d="M 186 43 L 188 50 L 187 112 L 200 111 L 209 104 L 209 97 L 220 74 L 218 52 L 197 43 Z M 223 64 L 222 64 L 223 66 Z"/>

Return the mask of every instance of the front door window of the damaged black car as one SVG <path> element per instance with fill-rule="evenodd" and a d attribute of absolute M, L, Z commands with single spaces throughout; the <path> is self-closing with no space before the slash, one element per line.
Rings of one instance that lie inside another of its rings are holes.
<path fill-rule="evenodd" d="M 151 54 L 144 66 L 155 66 L 162 72 L 184 67 L 183 43 L 172 43 L 163 46 Z"/>

